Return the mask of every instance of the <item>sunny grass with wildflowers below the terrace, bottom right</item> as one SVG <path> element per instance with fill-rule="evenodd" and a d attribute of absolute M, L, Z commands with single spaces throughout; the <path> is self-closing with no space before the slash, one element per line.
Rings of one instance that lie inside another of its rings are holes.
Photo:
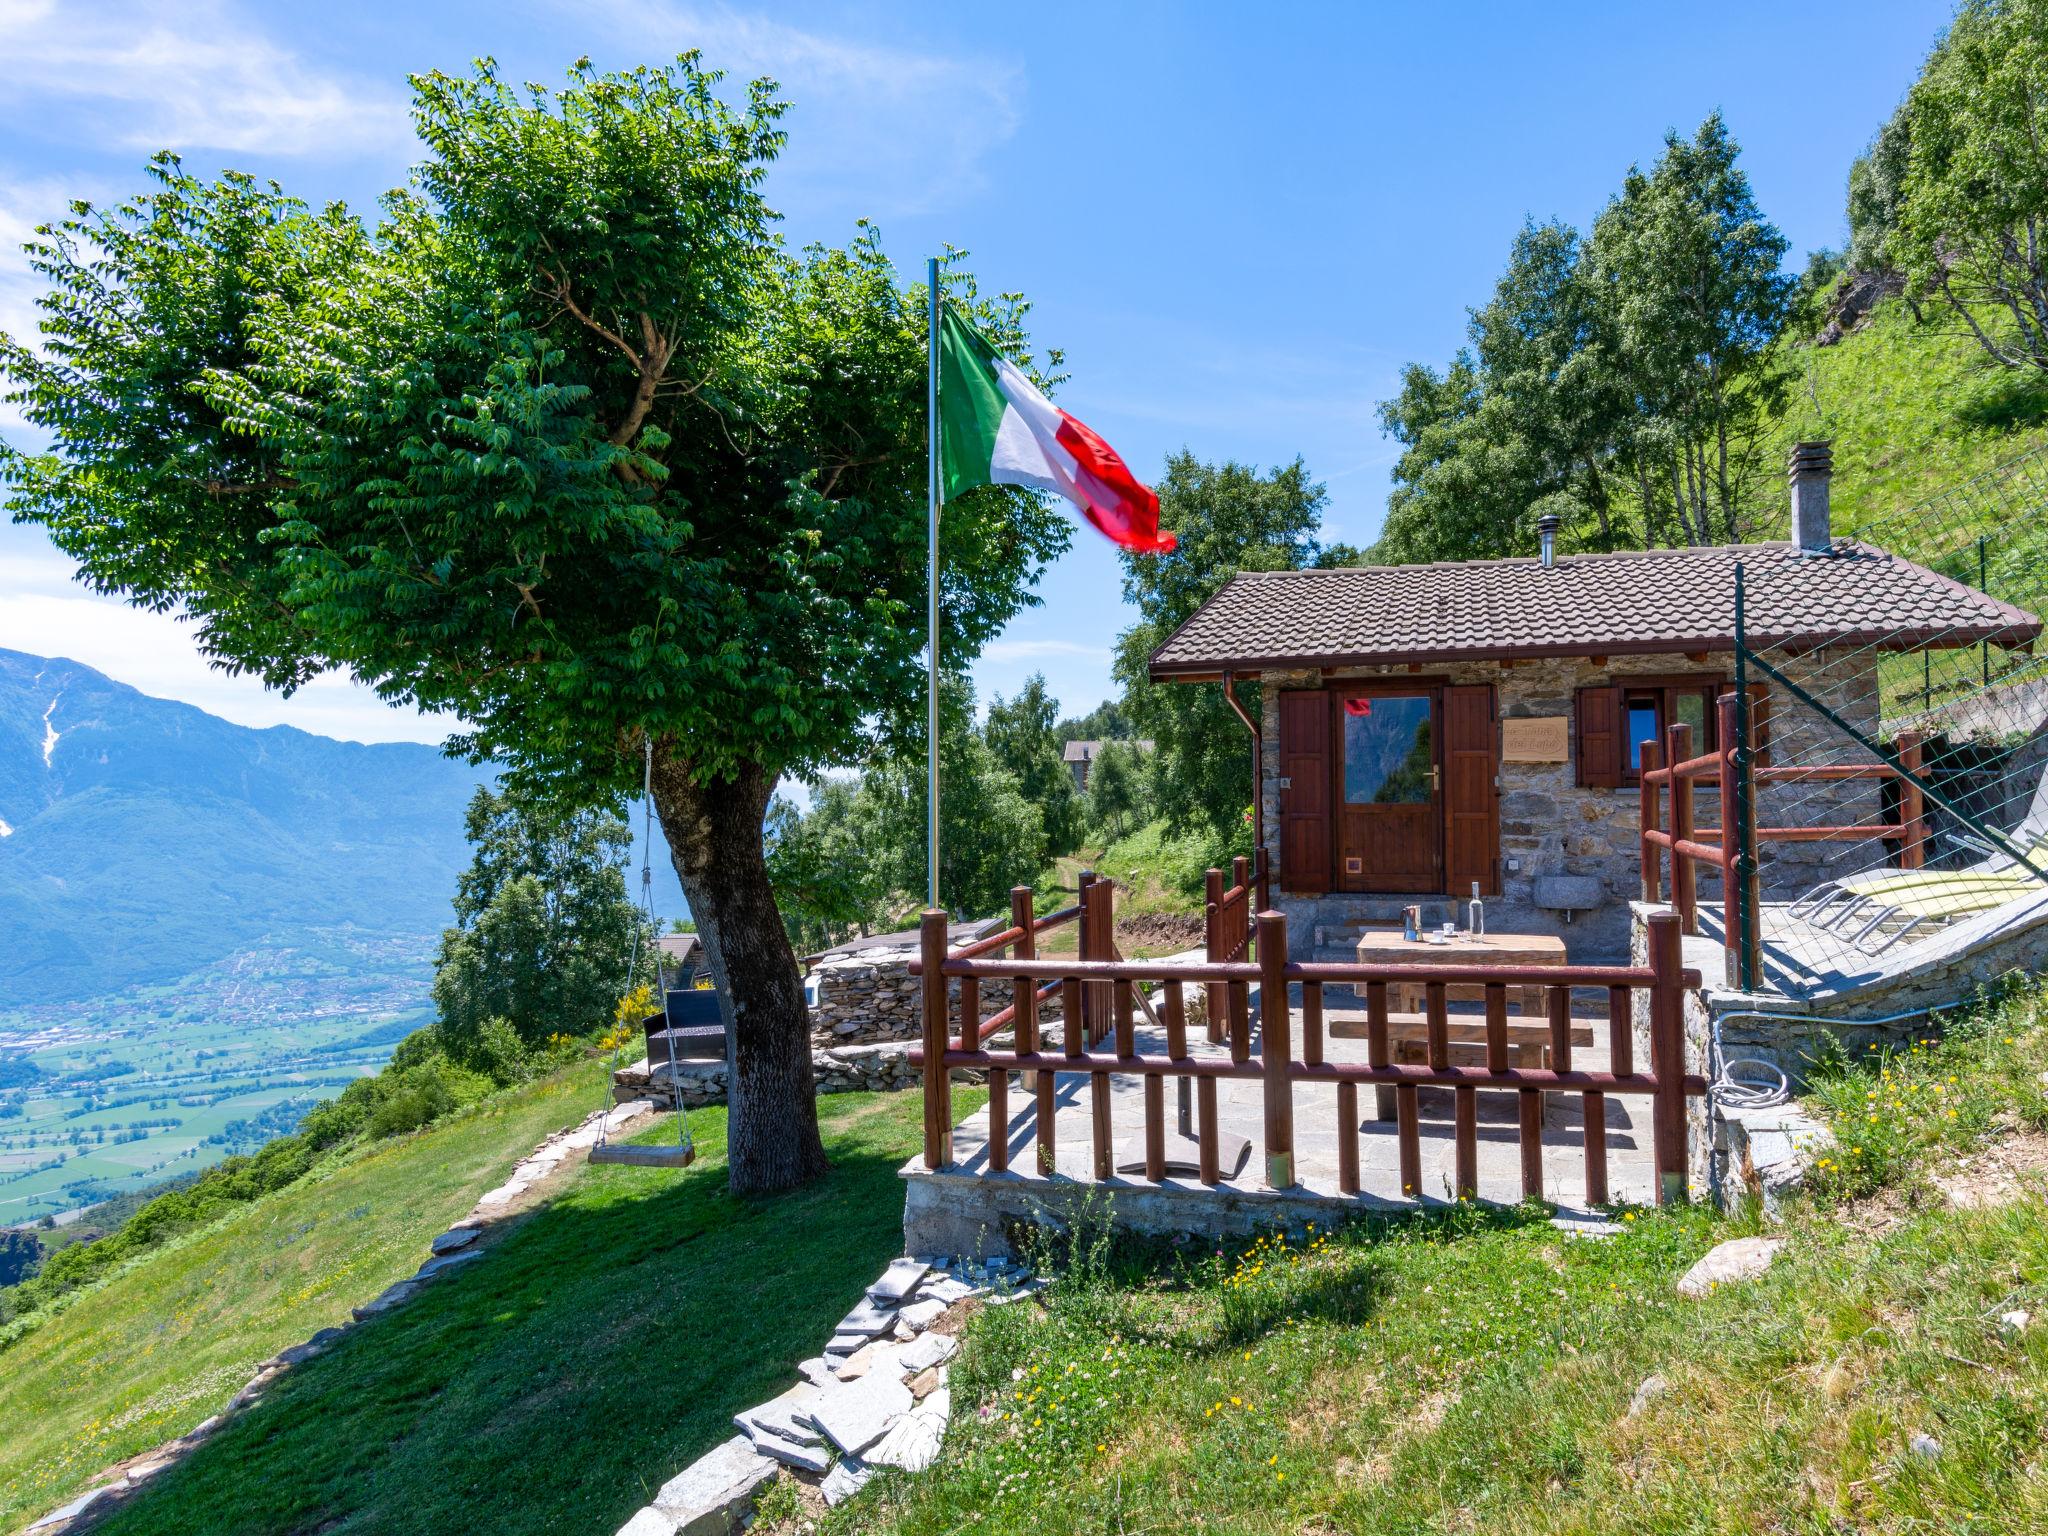
<path fill-rule="evenodd" d="M 2048 1204 L 1933 1184 L 2038 1143 L 2044 1067 L 2030 997 L 1837 1073 L 1847 1171 L 1704 1300 L 1673 1280 L 1755 1231 L 1704 1208 L 1606 1241 L 1468 1206 L 1225 1255 L 1083 1245 L 1042 1311 L 973 1321 L 940 1464 L 827 1532 L 2048 1530 Z"/>

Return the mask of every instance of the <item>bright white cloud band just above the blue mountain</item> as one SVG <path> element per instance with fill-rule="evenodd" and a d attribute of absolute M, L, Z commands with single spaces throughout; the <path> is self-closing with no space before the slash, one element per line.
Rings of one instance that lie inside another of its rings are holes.
<path fill-rule="evenodd" d="M 207 666 L 172 614 L 131 608 L 72 580 L 72 561 L 35 528 L 0 524 L 0 647 L 84 662 L 158 698 L 180 698 L 238 725 L 297 725 L 348 741 L 440 743 L 457 725 L 393 709 L 348 678 L 319 678 L 291 698 L 256 678 Z"/>

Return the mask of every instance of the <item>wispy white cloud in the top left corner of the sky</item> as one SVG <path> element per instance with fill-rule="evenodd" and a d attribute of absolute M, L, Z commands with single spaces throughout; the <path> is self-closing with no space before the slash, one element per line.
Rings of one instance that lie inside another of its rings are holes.
<path fill-rule="evenodd" d="M 213 0 L 0 0 L 0 57 L 16 119 L 63 102 L 102 145 L 362 156 L 412 141 L 406 98 L 346 80 Z"/>

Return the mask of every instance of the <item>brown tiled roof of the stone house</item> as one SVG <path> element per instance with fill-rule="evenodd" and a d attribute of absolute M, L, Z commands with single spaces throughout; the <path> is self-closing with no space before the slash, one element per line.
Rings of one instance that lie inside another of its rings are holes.
<path fill-rule="evenodd" d="M 1753 645 L 2028 643 L 2040 621 L 1872 545 L 1792 545 L 1366 565 L 1233 575 L 1153 651 L 1151 676 L 1358 662 L 1735 649 L 1735 567 Z"/>

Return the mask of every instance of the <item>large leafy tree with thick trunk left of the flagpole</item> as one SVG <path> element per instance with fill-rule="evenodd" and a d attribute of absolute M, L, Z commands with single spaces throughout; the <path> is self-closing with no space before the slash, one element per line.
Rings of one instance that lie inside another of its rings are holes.
<path fill-rule="evenodd" d="M 0 373 L 55 449 L 6 455 L 8 506 L 221 666 L 348 670 L 520 782 L 598 801 L 651 743 L 737 1028 L 731 1182 L 795 1184 L 825 1159 L 762 819 L 915 715 L 924 295 L 866 227 L 776 240 L 772 82 L 414 92 L 428 154 L 375 229 L 166 156 L 39 233 L 43 346 Z M 1024 305 L 950 283 L 1024 358 Z M 948 664 L 1065 537 L 1014 492 L 948 508 Z"/>

